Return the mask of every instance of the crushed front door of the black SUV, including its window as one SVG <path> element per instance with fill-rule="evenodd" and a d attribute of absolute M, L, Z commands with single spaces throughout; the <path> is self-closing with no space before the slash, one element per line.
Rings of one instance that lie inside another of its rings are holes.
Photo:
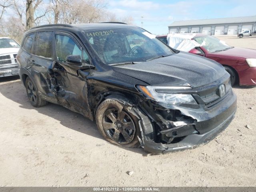
<path fill-rule="evenodd" d="M 80 55 L 84 63 L 90 58 L 79 39 L 66 32 L 55 33 L 56 56 L 52 70 L 58 85 L 59 102 L 72 111 L 90 116 L 88 107 L 88 90 L 85 78 L 78 76 L 78 66 L 66 62 L 68 55 Z M 88 69 L 88 75 L 90 74 Z"/>

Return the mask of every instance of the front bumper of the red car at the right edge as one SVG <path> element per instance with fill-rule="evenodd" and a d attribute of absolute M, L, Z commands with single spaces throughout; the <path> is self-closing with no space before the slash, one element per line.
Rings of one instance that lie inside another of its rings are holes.
<path fill-rule="evenodd" d="M 240 86 L 256 86 L 256 67 L 239 72 Z"/>

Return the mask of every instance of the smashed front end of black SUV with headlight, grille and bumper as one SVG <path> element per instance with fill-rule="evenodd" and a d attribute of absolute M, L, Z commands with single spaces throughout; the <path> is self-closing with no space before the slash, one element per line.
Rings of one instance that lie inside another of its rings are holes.
<path fill-rule="evenodd" d="M 141 145 L 152 153 L 207 143 L 230 124 L 236 112 L 236 95 L 226 76 L 200 88 L 137 88 L 147 98 L 140 102 L 140 108 L 150 118 L 155 132 L 154 138 L 145 137 L 142 132 Z"/>

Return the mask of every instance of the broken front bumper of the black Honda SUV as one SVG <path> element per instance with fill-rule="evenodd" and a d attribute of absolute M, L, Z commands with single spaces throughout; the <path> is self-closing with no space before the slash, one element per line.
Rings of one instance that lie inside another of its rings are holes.
<path fill-rule="evenodd" d="M 154 140 L 144 139 L 144 150 L 151 153 L 166 153 L 195 148 L 201 144 L 208 143 L 228 127 L 234 118 L 236 108 L 236 95 L 230 90 L 230 93 L 211 110 L 198 111 L 196 113 L 193 113 L 193 110 L 187 111 L 190 114 L 189 116 L 193 114 L 194 119 L 197 120 L 194 125 L 198 131 L 197 134 L 190 133 L 179 142 L 172 144 L 156 143 Z"/>

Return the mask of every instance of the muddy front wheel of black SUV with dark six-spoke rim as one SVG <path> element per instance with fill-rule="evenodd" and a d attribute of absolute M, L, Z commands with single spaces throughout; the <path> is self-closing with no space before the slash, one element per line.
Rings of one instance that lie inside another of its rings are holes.
<path fill-rule="evenodd" d="M 138 118 L 124 110 L 122 102 L 112 98 L 104 100 L 96 111 L 96 124 L 108 142 L 128 148 L 140 146 Z"/>

